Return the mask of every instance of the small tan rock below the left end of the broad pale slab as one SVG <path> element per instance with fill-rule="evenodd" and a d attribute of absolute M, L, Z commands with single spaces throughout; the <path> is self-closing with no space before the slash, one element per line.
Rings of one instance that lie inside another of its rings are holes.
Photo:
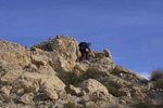
<path fill-rule="evenodd" d="M 27 94 L 24 94 L 20 98 L 20 102 L 22 102 L 23 104 L 30 104 L 33 98 L 34 98 L 34 94 L 33 93 L 27 93 Z"/>

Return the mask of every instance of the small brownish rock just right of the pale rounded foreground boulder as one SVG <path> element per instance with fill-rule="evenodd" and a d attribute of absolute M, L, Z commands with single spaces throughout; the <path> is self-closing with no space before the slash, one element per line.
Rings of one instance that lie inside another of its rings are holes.
<path fill-rule="evenodd" d="M 130 97 L 130 92 L 128 91 L 128 89 L 120 89 L 120 90 L 116 92 L 116 96 L 117 96 L 117 97 L 121 97 L 121 96 Z"/>

